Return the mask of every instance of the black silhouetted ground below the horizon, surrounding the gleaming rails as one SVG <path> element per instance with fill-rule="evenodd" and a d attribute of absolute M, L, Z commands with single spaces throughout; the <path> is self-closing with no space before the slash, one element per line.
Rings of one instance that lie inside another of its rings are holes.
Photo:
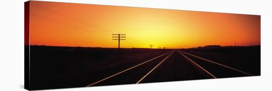
<path fill-rule="evenodd" d="M 28 47 L 28 46 L 25 46 Z M 260 75 L 260 46 L 177 49 L 211 61 Z M 86 48 L 30 46 L 31 90 L 86 87 L 94 82 L 158 57 L 171 49 Z M 135 84 L 167 55 L 146 62 L 93 86 Z M 218 78 L 248 76 L 186 55 Z M 178 51 L 169 56 L 140 83 L 210 79 Z"/>

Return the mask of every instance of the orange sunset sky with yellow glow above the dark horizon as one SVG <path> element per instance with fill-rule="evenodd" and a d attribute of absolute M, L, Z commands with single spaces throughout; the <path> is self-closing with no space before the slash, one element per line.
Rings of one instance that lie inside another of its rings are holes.
<path fill-rule="evenodd" d="M 189 48 L 260 45 L 258 15 L 197 12 L 77 3 L 30 1 L 30 44 L 118 47 L 113 33 L 125 33 L 120 47 Z"/>

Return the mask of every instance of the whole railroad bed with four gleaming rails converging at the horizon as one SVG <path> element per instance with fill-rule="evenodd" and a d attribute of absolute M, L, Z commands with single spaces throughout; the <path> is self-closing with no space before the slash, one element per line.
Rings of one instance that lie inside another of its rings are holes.
<path fill-rule="evenodd" d="M 86 87 L 239 76 L 254 75 L 180 50 L 174 50 L 112 74 Z"/>

